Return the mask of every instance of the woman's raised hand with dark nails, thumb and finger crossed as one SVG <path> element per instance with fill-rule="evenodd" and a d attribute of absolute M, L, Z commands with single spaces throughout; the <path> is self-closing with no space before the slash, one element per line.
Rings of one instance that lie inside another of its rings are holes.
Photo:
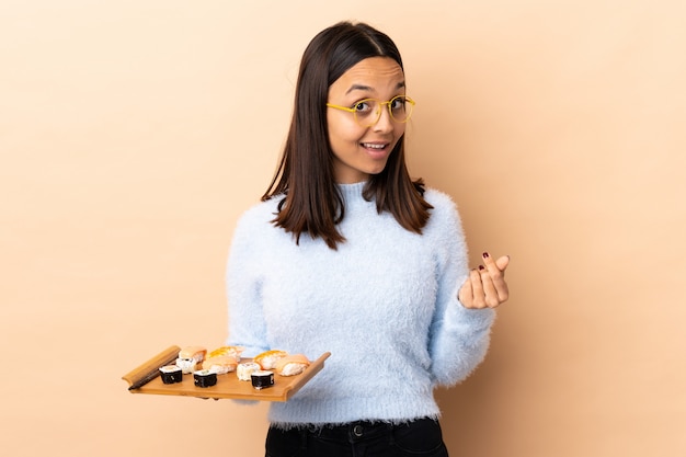
<path fill-rule="evenodd" d="M 488 252 L 483 253 L 483 265 L 469 272 L 469 277 L 457 294 L 465 308 L 495 308 L 505 302 L 510 296 L 505 283 L 505 269 L 510 256 L 493 260 Z"/>

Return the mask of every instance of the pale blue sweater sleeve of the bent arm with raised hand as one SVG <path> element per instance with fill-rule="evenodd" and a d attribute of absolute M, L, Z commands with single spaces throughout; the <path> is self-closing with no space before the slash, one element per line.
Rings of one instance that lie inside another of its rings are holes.
<path fill-rule="evenodd" d="M 436 212 L 435 313 L 430 328 L 431 374 L 436 385 L 453 386 L 467 378 L 483 361 L 490 342 L 492 309 L 467 309 L 457 294 L 469 275 L 467 244 L 455 204 Z M 438 208 L 438 206 L 436 206 Z"/>

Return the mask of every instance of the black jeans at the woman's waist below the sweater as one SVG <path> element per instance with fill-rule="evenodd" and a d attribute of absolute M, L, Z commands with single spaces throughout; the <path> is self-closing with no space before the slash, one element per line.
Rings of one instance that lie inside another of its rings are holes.
<path fill-rule="evenodd" d="M 392 425 L 351 422 L 339 426 L 270 427 L 266 457 L 448 457 L 441 425 L 420 419 Z"/>

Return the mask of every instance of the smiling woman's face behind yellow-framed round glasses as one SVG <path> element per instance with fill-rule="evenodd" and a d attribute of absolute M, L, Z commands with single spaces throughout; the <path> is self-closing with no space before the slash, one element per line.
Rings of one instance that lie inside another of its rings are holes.
<path fill-rule="evenodd" d="M 386 102 L 404 93 L 404 75 L 398 62 L 389 57 L 370 57 L 351 67 L 331 84 L 328 103 L 354 107 L 364 99 Z M 390 117 L 388 105 L 381 106 L 379 121 L 369 127 L 357 124 L 353 113 L 330 107 L 327 125 L 334 156 L 334 176 L 341 184 L 366 181 L 370 174 L 384 171 L 405 129 L 404 124 Z"/>

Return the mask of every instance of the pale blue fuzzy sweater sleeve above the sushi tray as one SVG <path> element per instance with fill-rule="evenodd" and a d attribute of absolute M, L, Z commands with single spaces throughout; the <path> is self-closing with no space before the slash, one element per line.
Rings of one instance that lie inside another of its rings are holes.
<path fill-rule="evenodd" d="M 262 306 L 262 272 L 259 259 L 261 243 L 255 242 L 261 225 L 268 224 L 248 210 L 239 220 L 226 274 L 229 302 L 229 336 L 227 344 L 243 346 L 248 357 L 268 350 Z"/>

